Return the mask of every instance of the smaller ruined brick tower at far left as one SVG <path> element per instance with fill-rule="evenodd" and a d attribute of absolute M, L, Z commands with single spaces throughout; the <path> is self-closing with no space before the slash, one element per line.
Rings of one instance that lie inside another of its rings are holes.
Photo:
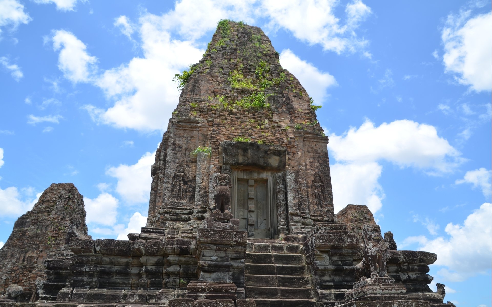
<path fill-rule="evenodd" d="M 82 199 L 73 184 L 52 184 L 31 211 L 17 219 L 0 250 L 0 293 L 18 284 L 23 300 L 29 300 L 36 279 L 46 278 L 43 261 L 56 251 L 69 251 L 70 238 L 87 237 Z"/>

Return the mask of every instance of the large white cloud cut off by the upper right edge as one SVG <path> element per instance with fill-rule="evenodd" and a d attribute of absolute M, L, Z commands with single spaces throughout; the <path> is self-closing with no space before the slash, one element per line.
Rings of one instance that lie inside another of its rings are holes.
<path fill-rule="evenodd" d="M 475 91 L 491 91 L 492 13 L 449 15 L 442 30 L 445 71 Z"/>

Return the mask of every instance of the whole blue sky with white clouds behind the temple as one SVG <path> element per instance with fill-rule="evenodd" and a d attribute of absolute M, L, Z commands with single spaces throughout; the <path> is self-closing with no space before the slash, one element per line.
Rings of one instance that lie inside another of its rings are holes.
<path fill-rule="evenodd" d="M 491 307 L 491 3 L 236 2 L 0 0 L 0 245 L 53 182 L 93 238 L 138 232 L 172 77 L 242 20 L 323 106 L 335 211 L 368 205 L 438 254 L 445 301 Z"/>

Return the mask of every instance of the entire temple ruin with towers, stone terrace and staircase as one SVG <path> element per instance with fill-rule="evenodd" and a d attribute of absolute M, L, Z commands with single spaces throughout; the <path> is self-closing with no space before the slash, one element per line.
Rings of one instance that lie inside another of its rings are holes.
<path fill-rule="evenodd" d="M 0 250 L 0 306 L 444 306 L 436 254 L 398 251 L 367 206 L 335 214 L 328 137 L 278 56 L 219 22 L 176 76 L 146 227 L 92 240 L 82 195 L 53 184 Z"/>

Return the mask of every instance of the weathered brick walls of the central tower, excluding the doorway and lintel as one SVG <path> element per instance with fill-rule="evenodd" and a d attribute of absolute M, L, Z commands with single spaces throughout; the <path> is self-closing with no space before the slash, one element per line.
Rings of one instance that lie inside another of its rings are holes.
<path fill-rule="evenodd" d="M 278 171 L 286 173 L 291 233 L 333 221 L 328 138 L 263 31 L 232 22 L 219 27 L 191 70 L 156 152 L 147 226 L 199 224 L 208 209 L 206 177 L 220 172 L 220 143 L 237 138 L 287 149 Z M 210 147 L 210 156 L 190 157 L 198 146 Z"/>

